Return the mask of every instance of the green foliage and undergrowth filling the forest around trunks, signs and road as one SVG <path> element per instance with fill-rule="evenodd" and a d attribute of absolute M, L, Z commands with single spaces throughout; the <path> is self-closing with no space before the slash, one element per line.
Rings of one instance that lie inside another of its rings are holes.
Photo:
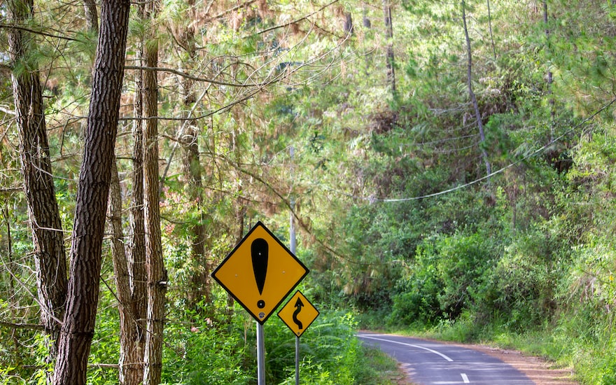
<path fill-rule="evenodd" d="M 209 288 L 211 302 L 189 300 L 186 291 L 230 251 L 240 226 L 246 230 L 256 218 L 288 223 L 290 197 L 299 220 L 297 255 L 309 265 L 306 284 L 323 307 L 372 311 L 381 324 L 427 326 L 458 340 L 484 333 L 509 338 L 500 332 L 527 342 L 537 337 L 537 351 L 575 363 L 585 382 L 614 383 L 612 3 L 547 2 L 545 25 L 535 3 L 492 3 L 488 18 L 486 2 L 467 2 L 472 81 L 486 132 L 481 146 L 465 92 L 458 3 L 392 4 L 394 34 L 387 43 L 398 70 L 395 98 L 386 87 L 378 7 L 350 1 L 320 9 L 286 0 L 161 6 L 155 20 L 139 20 L 134 9 L 127 64 L 139 65 L 139 41 L 152 27 L 155 40 L 146 44 L 158 43 L 161 66 L 193 75 L 189 82 L 158 73 L 160 158 L 169 167 L 160 197 L 170 282 L 167 383 L 254 381 L 253 322 L 238 309 L 228 314 L 216 288 Z M 73 8 L 38 3 L 24 27 L 45 35 L 27 34 L 20 62 L 0 55 L 3 73 L 40 71 L 64 230 L 71 229 L 95 47 Z M 355 23 L 351 36 L 340 27 L 347 12 Z M 298 15 L 310 17 L 285 24 Z M 370 19 L 370 28 L 359 15 Z M 8 52 L 6 30 L 2 52 Z M 61 33 L 67 38 L 54 37 Z M 188 36 L 194 41 L 185 41 Z M 136 76 L 125 73 L 116 148 L 127 209 Z M 8 78 L 0 80 L 0 191 L 10 239 L 2 221 L 0 253 L 34 293 L 27 204 L 12 193 L 21 177 Z M 194 120 L 186 118 L 189 112 Z M 196 195 L 176 151 L 188 124 L 197 130 L 200 151 L 200 162 L 191 165 L 202 175 Z M 489 181 L 479 181 L 481 150 L 497 172 Z M 195 258 L 197 224 L 207 239 L 205 255 Z M 5 258 L 9 241 L 13 262 Z M 106 283 L 111 271 L 104 260 Z M 36 322 L 37 311 L 28 310 L 33 300 L 21 289 L 10 292 L 15 282 L 2 274 L 2 320 Z M 118 360 L 111 291 L 102 288 L 94 364 Z M 346 312 L 323 312 L 302 337 L 305 383 L 374 381 L 353 339 L 355 326 Z M 0 333 L 1 381 L 41 379 L 45 368 L 23 368 L 41 364 L 40 335 Z M 290 383 L 293 335 L 276 317 L 266 333 L 268 379 Z M 594 359 L 601 351 L 605 358 Z M 92 384 L 117 381 L 108 367 L 94 365 L 89 375 Z"/>

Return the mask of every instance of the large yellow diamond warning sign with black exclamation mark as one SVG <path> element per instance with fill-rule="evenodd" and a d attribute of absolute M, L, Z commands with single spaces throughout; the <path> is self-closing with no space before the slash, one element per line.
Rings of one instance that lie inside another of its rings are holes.
<path fill-rule="evenodd" d="M 308 271 L 259 221 L 212 276 L 263 324 Z"/>

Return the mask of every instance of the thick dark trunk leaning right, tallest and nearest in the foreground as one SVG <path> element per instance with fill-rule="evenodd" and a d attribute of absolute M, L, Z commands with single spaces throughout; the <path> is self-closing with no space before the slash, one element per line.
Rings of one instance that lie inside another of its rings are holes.
<path fill-rule="evenodd" d="M 55 385 L 83 385 L 101 271 L 111 162 L 118 131 L 130 1 L 103 0 L 90 111 L 79 173 L 71 244 L 71 277 L 59 336 Z"/>

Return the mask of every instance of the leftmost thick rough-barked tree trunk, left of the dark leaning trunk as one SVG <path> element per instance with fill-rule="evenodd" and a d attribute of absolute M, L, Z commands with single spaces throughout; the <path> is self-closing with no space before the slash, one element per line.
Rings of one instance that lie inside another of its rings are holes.
<path fill-rule="evenodd" d="M 8 18 L 24 24 L 33 17 L 32 0 L 8 3 Z M 32 37 L 20 29 L 8 29 L 10 58 L 15 68 L 11 76 L 15 97 L 15 116 L 20 139 L 21 170 L 28 205 L 34 264 L 37 274 L 41 324 L 48 335 L 49 360 L 57 354 L 57 340 L 66 300 L 66 254 L 62 222 L 55 198 L 50 151 L 45 127 L 43 93 L 38 69 L 29 63 Z"/>

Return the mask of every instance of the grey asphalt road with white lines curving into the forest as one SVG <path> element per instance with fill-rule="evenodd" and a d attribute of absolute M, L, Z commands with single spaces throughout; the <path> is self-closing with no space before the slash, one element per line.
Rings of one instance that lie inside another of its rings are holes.
<path fill-rule="evenodd" d="M 398 360 L 415 384 L 534 384 L 498 358 L 463 346 L 398 335 L 360 333 L 358 337 Z"/>

